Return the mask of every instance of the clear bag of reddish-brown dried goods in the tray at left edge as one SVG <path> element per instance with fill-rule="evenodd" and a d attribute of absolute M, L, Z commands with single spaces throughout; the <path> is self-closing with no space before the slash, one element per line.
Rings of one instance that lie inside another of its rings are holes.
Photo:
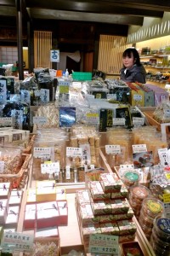
<path fill-rule="evenodd" d="M 16 174 L 20 172 L 23 164 L 20 148 L 1 147 L 0 148 L 1 174 Z"/>

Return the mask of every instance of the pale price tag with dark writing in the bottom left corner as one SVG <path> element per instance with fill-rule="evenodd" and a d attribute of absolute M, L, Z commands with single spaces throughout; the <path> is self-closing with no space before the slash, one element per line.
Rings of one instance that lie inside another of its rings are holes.
<path fill-rule="evenodd" d="M 1 247 L 3 251 L 29 252 L 33 247 L 34 237 L 17 232 L 4 232 Z"/>

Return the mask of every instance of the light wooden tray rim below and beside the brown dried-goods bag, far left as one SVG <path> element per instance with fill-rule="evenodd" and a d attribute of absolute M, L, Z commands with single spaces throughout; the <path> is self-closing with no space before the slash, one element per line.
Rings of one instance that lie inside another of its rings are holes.
<path fill-rule="evenodd" d="M 20 168 L 20 171 L 16 174 L 0 174 L 0 182 L 1 183 L 11 183 L 11 186 L 13 189 L 16 189 L 20 186 L 20 181 L 23 177 L 24 172 L 28 171 L 28 168 L 30 167 L 29 164 L 31 162 L 31 154 L 24 154 L 23 155 L 25 160 Z"/>

